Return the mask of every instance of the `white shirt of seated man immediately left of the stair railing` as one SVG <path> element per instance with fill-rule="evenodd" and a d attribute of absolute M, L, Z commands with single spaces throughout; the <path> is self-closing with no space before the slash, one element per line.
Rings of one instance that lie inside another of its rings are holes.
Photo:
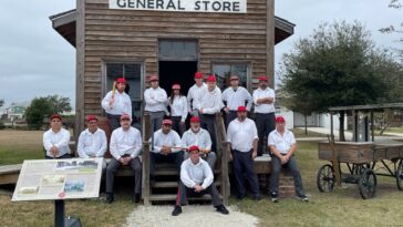
<path fill-rule="evenodd" d="M 118 127 L 112 132 L 110 152 L 115 159 L 120 159 L 125 154 L 135 158 L 138 156 L 142 145 L 142 135 L 137 128 L 131 126 L 124 131 L 123 127 Z"/>

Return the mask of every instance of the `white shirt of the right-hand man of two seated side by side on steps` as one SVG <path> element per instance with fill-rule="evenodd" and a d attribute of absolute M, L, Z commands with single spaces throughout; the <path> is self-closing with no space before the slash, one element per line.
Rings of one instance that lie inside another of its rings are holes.
<path fill-rule="evenodd" d="M 192 128 L 186 131 L 182 136 L 182 146 L 190 147 L 193 145 L 204 149 L 211 149 L 211 138 L 208 131 L 202 127 L 197 133 L 193 132 Z"/>

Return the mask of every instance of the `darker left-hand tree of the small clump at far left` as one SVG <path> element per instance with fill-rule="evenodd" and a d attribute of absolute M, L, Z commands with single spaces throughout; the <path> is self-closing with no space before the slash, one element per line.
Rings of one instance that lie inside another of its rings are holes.
<path fill-rule="evenodd" d="M 25 110 L 25 120 L 30 128 L 39 130 L 43 118 L 52 113 L 52 107 L 46 97 L 35 97 Z"/>

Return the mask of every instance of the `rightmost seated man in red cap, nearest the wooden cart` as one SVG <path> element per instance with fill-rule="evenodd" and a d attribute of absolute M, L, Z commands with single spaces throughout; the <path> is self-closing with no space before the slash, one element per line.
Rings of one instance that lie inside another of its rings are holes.
<path fill-rule="evenodd" d="M 293 154 L 297 151 L 297 142 L 292 132 L 286 128 L 286 120 L 282 116 L 276 117 L 276 130 L 272 131 L 268 138 L 268 145 L 271 151 L 271 177 L 270 195 L 273 203 L 278 202 L 279 176 L 281 166 L 287 165 L 291 172 L 296 194 L 302 202 L 308 202 L 302 187 L 301 174 Z"/>

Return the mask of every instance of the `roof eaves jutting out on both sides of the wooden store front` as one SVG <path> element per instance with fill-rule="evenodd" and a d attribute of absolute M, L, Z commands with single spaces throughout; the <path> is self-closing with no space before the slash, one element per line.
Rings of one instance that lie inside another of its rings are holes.
<path fill-rule="evenodd" d="M 61 12 L 49 17 L 52 21 L 52 27 L 62 35 L 70 44 L 75 47 L 75 24 L 78 12 L 75 9 Z M 285 39 L 293 34 L 293 28 L 296 24 L 275 17 L 275 44 L 280 43 Z"/>

